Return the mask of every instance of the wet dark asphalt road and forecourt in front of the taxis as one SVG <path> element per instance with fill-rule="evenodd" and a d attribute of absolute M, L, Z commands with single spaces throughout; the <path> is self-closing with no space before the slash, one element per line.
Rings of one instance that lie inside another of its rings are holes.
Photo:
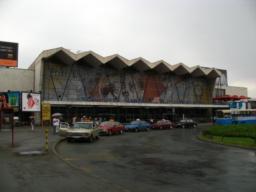
<path fill-rule="evenodd" d="M 11 132 L 0 132 L 0 191 L 255 191 L 255 150 L 200 141 L 205 125 L 58 145 L 49 131 L 40 156 L 17 156 L 45 150 L 40 127 L 17 127 L 14 147 Z"/>

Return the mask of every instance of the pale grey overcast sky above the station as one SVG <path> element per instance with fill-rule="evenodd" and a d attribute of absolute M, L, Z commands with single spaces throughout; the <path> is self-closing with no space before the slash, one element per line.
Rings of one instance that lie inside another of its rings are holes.
<path fill-rule="evenodd" d="M 0 20 L 18 68 L 57 47 L 120 54 L 225 69 L 256 98 L 255 0 L 0 0 Z"/>

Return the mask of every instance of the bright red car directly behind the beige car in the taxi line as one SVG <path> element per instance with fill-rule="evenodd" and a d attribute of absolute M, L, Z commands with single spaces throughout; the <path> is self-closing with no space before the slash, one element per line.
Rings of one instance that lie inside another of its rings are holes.
<path fill-rule="evenodd" d="M 120 124 L 120 122 L 102 122 L 99 125 L 100 134 L 108 134 L 111 136 L 113 133 L 122 134 L 124 131 L 124 125 Z"/>

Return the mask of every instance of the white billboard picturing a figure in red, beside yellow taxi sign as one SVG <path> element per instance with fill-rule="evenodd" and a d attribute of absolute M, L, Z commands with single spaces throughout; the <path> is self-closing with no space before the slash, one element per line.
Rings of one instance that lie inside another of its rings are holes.
<path fill-rule="evenodd" d="M 41 111 L 41 95 L 40 93 L 21 92 L 21 111 Z"/>

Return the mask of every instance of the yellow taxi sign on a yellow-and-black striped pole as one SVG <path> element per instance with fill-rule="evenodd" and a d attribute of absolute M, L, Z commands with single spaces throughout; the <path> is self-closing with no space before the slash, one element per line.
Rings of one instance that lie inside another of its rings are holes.
<path fill-rule="evenodd" d="M 43 103 L 42 104 L 42 129 L 45 128 L 45 138 L 46 138 L 46 145 L 45 150 L 46 153 L 48 152 L 48 127 L 51 128 L 51 104 L 50 103 Z"/>

